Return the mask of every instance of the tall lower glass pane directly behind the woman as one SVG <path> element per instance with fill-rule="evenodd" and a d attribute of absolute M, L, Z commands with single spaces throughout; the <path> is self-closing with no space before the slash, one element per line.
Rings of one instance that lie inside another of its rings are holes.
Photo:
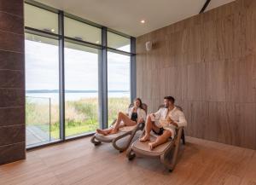
<path fill-rule="evenodd" d="M 130 56 L 108 52 L 108 125 L 130 102 Z"/>

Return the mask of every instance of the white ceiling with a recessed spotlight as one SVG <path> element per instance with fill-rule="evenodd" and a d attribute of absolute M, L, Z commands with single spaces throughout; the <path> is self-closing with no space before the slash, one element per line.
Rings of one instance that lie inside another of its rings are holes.
<path fill-rule="evenodd" d="M 206 0 L 37 0 L 138 37 L 198 14 Z M 234 0 L 212 0 L 207 10 Z M 140 23 L 145 20 L 146 23 Z"/>

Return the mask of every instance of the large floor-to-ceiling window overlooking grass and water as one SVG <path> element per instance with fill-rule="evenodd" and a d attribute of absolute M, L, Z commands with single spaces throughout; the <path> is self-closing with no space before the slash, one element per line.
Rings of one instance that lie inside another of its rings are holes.
<path fill-rule="evenodd" d="M 36 1 L 25 26 L 26 147 L 86 136 L 126 112 L 130 37 Z"/>

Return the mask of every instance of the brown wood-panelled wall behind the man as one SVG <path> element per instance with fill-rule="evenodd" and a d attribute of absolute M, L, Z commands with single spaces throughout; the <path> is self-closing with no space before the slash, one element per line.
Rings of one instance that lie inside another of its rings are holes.
<path fill-rule="evenodd" d="M 165 95 L 183 107 L 188 136 L 256 149 L 255 0 L 137 38 L 137 96 L 150 113 Z"/>

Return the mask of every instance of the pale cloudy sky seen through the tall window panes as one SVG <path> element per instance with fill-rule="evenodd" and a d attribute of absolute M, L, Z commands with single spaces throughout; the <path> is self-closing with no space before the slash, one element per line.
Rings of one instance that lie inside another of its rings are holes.
<path fill-rule="evenodd" d="M 26 90 L 58 90 L 58 46 L 26 40 L 25 49 Z M 66 90 L 98 89 L 96 52 L 65 48 Z M 130 90 L 130 56 L 108 52 L 108 90 Z"/>

